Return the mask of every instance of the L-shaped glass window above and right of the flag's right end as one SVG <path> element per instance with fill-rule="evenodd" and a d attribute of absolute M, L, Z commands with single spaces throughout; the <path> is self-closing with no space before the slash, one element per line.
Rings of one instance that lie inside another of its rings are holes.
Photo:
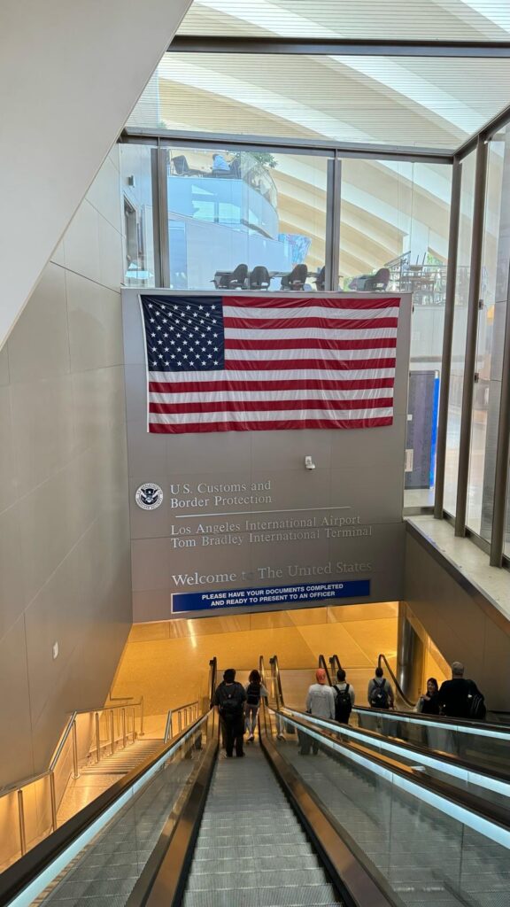
<path fill-rule="evenodd" d="M 342 161 L 340 288 L 412 293 L 405 505 L 434 502 L 451 168 Z"/>

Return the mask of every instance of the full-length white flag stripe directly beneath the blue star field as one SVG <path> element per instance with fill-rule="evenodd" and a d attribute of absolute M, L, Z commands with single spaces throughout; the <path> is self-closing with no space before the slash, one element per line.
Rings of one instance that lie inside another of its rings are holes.
<path fill-rule="evenodd" d="M 211 372 L 149 372 L 149 380 L 177 384 L 186 381 L 258 381 L 263 385 L 280 384 L 282 381 L 302 381 L 317 379 L 320 381 L 367 381 L 372 378 L 395 378 L 395 368 L 309 368 L 285 369 L 285 371 L 246 372 L 244 369 L 214 370 Z"/>

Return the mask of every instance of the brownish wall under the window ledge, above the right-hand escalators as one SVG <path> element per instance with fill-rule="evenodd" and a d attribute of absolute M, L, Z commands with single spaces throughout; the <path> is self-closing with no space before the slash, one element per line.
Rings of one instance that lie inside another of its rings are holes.
<path fill-rule="evenodd" d="M 406 536 L 404 592 L 410 609 L 450 664 L 464 662 L 466 677 L 476 681 L 487 707 L 508 710 L 510 622 L 415 533 Z"/>

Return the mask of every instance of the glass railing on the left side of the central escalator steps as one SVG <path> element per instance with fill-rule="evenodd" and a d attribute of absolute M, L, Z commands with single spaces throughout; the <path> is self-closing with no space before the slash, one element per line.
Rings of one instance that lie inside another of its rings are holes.
<path fill-rule="evenodd" d="M 103 808 L 98 805 L 91 820 L 67 836 L 66 843 L 57 848 L 44 871 L 31 879 L 19 898 L 10 901 L 13 907 L 18 902 L 36 900 L 40 905 L 61 899 L 73 905 L 81 902 L 85 894 L 91 903 L 99 903 L 113 893 L 116 907 L 122 907 L 156 850 L 163 829 L 165 836 L 172 834 L 192 777 L 200 769 L 206 744 L 215 734 L 211 710 L 156 756 L 131 783 L 118 782 L 110 802 L 101 804 Z M 79 817 L 71 822 L 78 824 Z"/>

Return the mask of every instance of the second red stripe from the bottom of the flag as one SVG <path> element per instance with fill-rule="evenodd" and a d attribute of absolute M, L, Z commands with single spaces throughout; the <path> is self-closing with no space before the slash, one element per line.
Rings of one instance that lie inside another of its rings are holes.
<path fill-rule="evenodd" d="M 386 409 L 388 406 L 393 406 L 393 397 L 363 400 L 223 400 L 218 403 L 151 403 L 149 412 L 158 414 L 258 413 L 283 409 Z"/>

